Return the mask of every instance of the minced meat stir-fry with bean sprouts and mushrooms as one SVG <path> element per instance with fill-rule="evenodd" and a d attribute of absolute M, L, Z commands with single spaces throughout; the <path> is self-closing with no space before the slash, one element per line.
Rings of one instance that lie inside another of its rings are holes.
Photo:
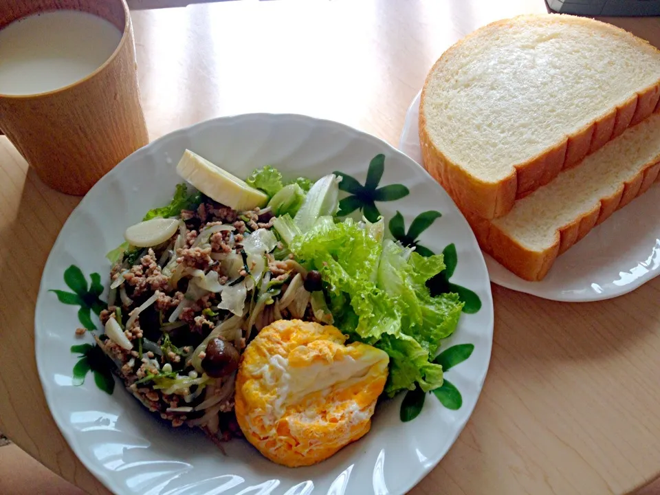
<path fill-rule="evenodd" d="M 203 195 L 194 206 L 170 239 L 113 265 L 96 340 L 144 406 L 221 441 L 240 434 L 234 377 L 250 337 L 282 318 L 331 316 L 312 307 L 320 274 L 292 259 L 270 208 L 236 212 Z"/>

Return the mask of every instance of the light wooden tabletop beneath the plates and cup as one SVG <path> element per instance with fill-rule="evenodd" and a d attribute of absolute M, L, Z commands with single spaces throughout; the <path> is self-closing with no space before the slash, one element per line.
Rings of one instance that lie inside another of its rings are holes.
<path fill-rule="evenodd" d="M 396 144 L 437 57 L 542 0 L 279 1 L 133 12 L 155 139 L 253 111 L 338 120 Z M 660 19 L 612 19 L 660 45 Z M 595 61 L 596 62 L 596 61 Z M 34 362 L 41 271 L 79 199 L 47 189 L 0 138 L 0 430 L 91 494 Z M 660 473 L 660 278 L 600 303 L 493 287 L 495 340 L 474 415 L 412 494 L 623 494 Z"/>

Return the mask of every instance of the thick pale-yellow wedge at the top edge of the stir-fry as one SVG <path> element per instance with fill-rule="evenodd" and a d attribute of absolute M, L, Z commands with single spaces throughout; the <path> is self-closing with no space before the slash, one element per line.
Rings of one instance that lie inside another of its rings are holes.
<path fill-rule="evenodd" d="M 263 192 L 190 150 L 179 160 L 177 173 L 214 201 L 234 210 L 254 210 L 268 203 Z"/>

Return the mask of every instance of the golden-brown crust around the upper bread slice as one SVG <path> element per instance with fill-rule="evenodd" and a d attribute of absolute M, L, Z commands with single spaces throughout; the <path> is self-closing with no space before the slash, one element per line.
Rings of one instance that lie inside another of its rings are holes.
<path fill-rule="evenodd" d="M 504 19 L 486 25 L 481 30 L 494 30 L 501 26 L 510 28 L 521 20 L 529 18 L 547 19 L 556 17 L 558 14 L 536 14 Z M 576 24 L 587 24 L 593 27 L 598 23 L 599 28 L 613 32 L 624 32 L 613 25 L 562 14 L 569 18 L 570 22 Z M 429 72 L 433 74 L 437 67 L 448 58 L 454 56 L 466 39 L 475 36 L 478 30 L 467 35 L 458 43 L 454 44 L 436 61 Z M 641 46 L 646 47 L 649 43 L 645 40 L 635 38 Z M 660 50 L 653 47 L 660 56 Z M 430 138 L 426 125 L 426 115 L 423 111 L 426 91 L 430 83 L 430 77 L 426 78 L 421 91 L 421 104 L 419 109 L 419 142 L 423 157 L 423 166 L 439 183 L 447 190 L 461 210 L 476 214 L 483 219 L 494 219 L 507 214 L 514 206 L 514 201 L 529 195 L 530 192 L 548 184 L 564 168 L 578 164 L 588 153 L 593 153 L 608 141 L 621 135 L 629 126 L 637 124 L 647 118 L 653 111 L 660 111 L 660 80 L 654 85 L 639 91 L 615 109 L 610 109 L 600 118 L 586 124 L 582 129 L 566 135 L 566 138 L 547 151 L 531 157 L 526 162 L 516 164 L 511 168 L 511 173 L 496 183 L 485 182 L 474 177 L 459 164 L 452 162 L 443 152 L 435 146 Z"/>

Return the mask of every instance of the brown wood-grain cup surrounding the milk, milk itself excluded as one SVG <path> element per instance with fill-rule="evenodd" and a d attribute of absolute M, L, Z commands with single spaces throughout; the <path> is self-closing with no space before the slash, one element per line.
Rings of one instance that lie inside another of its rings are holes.
<path fill-rule="evenodd" d="M 0 0 L 0 30 L 49 10 L 89 12 L 117 26 L 122 38 L 103 65 L 72 85 L 41 94 L 0 94 L 0 131 L 45 184 L 84 195 L 149 141 L 137 85 L 133 25 L 124 0 Z"/>

